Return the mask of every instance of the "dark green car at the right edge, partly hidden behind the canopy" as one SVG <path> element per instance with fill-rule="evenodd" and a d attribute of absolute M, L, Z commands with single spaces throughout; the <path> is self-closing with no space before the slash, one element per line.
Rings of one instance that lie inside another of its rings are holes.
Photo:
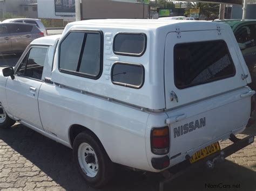
<path fill-rule="evenodd" d="M 238 45 L 250 71 L 252 83 L 249 86 L 256 90 L 256 20 L 214 20 L 231 26 Z"/>

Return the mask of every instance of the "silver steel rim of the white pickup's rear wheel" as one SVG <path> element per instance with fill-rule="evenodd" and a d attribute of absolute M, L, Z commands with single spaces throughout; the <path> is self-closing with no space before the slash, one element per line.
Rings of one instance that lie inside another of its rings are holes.
<path fill-rule="evenodd" d="M 98 158 L 88 143 L 82 143 L 78 147 L 78 161 L 83 172 L 90 177 L 95 177 L 98 173 Z"/>

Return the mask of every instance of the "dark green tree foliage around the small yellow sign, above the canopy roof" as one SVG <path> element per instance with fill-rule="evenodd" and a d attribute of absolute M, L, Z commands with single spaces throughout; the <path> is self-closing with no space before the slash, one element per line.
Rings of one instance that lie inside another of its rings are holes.
<path fill-rule="evenodd" d="M 199 17 L 205 16 L 206 20 L 214 20 L 219 17 L 219 4 L 199 2 L 191 2 L 189 4 L 184 13 L 187 17 L 190 16 L 190 9 L 192 8 L 200 8 Z"/>

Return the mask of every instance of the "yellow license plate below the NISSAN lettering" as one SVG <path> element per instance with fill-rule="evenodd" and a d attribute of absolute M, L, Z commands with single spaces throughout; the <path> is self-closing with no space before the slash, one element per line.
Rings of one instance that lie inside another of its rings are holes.
<path fill-rule="evenodd" d="M 190 163 L 194 163 L 200 159 L 203 159 L 205 157 L 207 157 L 210 154 L 213 154 L 217 151 L 220 150 L 220 145 L 219 142 L 213 143 L 209 146 L 206 146 L 205 148 L 202 148 L 200 151 L 197 151 L 196 153 L 194 153 L 192 155 L 192 157 L 190 158 Z"/>

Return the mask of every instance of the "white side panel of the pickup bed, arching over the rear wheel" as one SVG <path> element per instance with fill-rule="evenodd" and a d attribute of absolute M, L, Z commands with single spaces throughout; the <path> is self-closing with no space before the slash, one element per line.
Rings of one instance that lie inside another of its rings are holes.
<path fill-rule="evenodd" d="M 97 135 L 113 162 L 151 171 L 145 163 L 147 112 L 47 83 L 38 103 L 46 132 L 70 143 L 72 125 L 84 126 Z"/>

